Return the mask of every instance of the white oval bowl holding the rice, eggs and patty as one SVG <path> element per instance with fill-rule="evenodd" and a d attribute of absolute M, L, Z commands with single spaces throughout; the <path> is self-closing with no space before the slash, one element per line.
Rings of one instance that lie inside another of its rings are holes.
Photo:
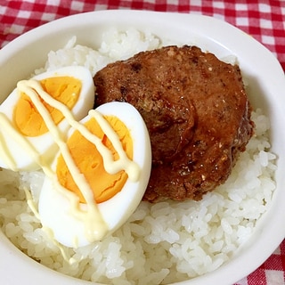
<path fill-rule="evenodd" d="M 180 284 L 231 284 L 253 272 L 285 237 L 285 78 L 281 65 L 263 45 L 237 28 L 214 18 L 176 13 L 139 11 L 87 12 L 55 20 L 16 38 L 0 51 L 0 101 L 17 81 L 42 67 L 46 54 L 76 35 L 82 45 L 96 47 L 110 27 L 149 29 L 159 37 L 191 42 L 217 57 L 238 58 L 250 85 L 250 101 L 271 120 L 272 151 L 278 156 L 277 189 L 271 208 L 259 221 L 256 232 L 232 259 L 213 273 Z M 94 37 L 90 37 L 90 34 Z M 255 95 L 253 95 L 255 94 Z M 87 284 L 55 273 L 25 256 L 0 232 L 0 276 L 3 284 Z"/>

